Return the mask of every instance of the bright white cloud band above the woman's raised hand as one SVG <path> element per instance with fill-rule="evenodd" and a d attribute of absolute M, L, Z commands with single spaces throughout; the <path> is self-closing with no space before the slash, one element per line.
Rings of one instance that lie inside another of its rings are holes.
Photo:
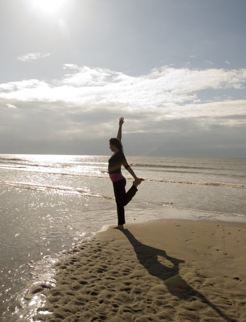
<path fill-rule="evenodd" d="M 64 65 L 63 79 L 24 80 L 0 84 L 0 98 L 105 106 L 118 103 L 131 109 L 158 109 L 201 103 L 199 91 L 242 89 L 246 69 L 189 69 L 164 66 L 132 77 L 103 68 Z"/>

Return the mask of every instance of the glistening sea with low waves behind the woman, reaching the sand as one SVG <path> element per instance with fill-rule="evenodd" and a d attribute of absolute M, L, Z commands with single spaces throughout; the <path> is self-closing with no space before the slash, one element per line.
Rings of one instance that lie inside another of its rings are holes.
<path fill-rule="evenodd" d="M 45 300 L 28 299 L 53 264 L 97 231 L 117 224 L 110 156 L 0 155 L 0 314 L 32 321 Z M 126 222 L 246 222 L 246 159 L 128 157 L 144 178 L 126 206 Z M 122 169 L 127 189 L 130 174 Z M 44 312 L 45 314 L 45 312 Z"/>

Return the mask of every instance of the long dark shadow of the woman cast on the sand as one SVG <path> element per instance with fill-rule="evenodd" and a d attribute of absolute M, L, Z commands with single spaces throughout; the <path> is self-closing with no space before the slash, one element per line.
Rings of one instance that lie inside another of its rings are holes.
<path fill-rule="evenodd" d="M 199 298 L 203 303 L 210 306 L 219 316 L 226 321 L 236 322 L 235 319 L 224 314 L 219 308 L 210 302 L 200 292 L 194 290 L 182 277 L 179 275 L 179 264 L 185 262 L 171 256 L 163 250 L 150 247 L 138 241 L 128 229 L 122 230 L 122 233 L 128 238 L 137 255 L 139 263 L 149 272 L 149 274 L 158 277 L 166 285 L 169 292 L 182 300 L 192 300 L 194 297 Z M 167 259 L 172 263 L 172 266 L 165 265 L 158 261 L 158 256 Z"/>

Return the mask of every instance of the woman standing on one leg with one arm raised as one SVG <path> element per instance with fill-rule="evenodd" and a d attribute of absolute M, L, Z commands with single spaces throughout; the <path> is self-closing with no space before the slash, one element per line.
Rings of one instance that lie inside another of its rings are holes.
<path fill-rule="evenodd" d="M 124 206 L 132 200 L 137 192 L 137 186 L 144 180 L 142 178 L 137 178 L 130 165 L 127 163 L 126 157 L 123 153 L 123 147 L 121 144 L 121 128 L 123 123 L 124 118 L 121 117 L 119 119 L 117 138 L 111 138 L 109 140 L 109 147 L 114 153 L 109 159 L 108 170 L 109 177 L 113 182 L 114 196 L 117 205 L 118 225 L 113 227 L 115 229 L 124 229 L 124 224 L 126 223 Z M 126 192 L 127 181 L 121 174 L 121 165 L 123 165 L 134 178 L 133 185 L 128 192 Z"/>

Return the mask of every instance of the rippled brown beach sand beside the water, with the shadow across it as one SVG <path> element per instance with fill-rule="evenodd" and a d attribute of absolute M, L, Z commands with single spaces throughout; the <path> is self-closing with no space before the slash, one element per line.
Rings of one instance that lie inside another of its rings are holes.
<path fill-rule="evenodd" d="M 39 286 L 34 320 L 246 321 L 245 233 L 180 220 L 99 232 L 56 263 L 54 288 Z"/>

